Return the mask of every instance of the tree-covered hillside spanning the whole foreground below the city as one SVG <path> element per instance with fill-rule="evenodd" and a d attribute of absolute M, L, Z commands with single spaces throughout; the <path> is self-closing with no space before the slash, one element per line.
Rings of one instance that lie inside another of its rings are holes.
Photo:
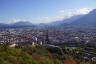
<path fill-rule="evenodd" d="M 2 64 L 94 64 L 91 59 L 84 59 L 86 52 L 82 51 L 86 47 L 52 47 L 52 46 L 18 46 L 11 48 L 8 45 L 0 45 L 0 63 Z M 96 50 L 96 47 L 90 49 Z M 63 55 L 60 53 L 64 53 Z M 81 51 L 76 53 L 76 51 Z M 74 53 L 74 54 L 73 54 Z M 89 54 L 95 54 L 89 52 Z M 64 57 L 62 57 L 64 56 Z"/>

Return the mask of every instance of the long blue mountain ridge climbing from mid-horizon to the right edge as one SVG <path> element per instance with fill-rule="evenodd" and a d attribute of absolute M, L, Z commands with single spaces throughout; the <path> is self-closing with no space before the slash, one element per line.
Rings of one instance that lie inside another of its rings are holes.
<path fill-rule="evenodd" d="M 96 27 L 96 9 L 85 15 L 75 15 L 62 21 L 53 22 L 55 26 Z"/>

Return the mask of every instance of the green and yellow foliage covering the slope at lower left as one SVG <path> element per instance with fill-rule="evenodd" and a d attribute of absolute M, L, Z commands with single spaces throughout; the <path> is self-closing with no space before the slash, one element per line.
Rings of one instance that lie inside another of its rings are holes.
<path fill-rule="evenodd" d="M 10 48 L 0 45 L 0 63 L 2 64 L 62 64 L 56 58 L 49 57 L 46 47 L 43 46 L 23 46 L 20 48 Z"/>

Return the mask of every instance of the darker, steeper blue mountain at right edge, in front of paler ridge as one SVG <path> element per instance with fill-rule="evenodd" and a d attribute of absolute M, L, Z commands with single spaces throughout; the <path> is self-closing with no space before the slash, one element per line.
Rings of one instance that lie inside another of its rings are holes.
<path fill-rule="evenodd" d="M 96 27 L 96 9 L 73 21 L 70 25 L 76 27 Z"/>

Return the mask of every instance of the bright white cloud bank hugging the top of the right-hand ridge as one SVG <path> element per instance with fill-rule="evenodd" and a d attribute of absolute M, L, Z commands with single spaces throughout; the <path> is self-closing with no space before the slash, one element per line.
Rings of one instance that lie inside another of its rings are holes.
<path fill-rule="evenodd" d="M 74 15 L 87 14 L 90 11 L 91 11 L 91 9 L 88 9 L 88 8 L 60 10 L 60 11 L 58 11 L 59 13 L 57 16 L 43 17 L 43 18 L 39 19 L 38 21 L 43 22 L 43 23 L 58 21 L 58 20 L 63 20 L 63 19 L 69 18 Z"/>

